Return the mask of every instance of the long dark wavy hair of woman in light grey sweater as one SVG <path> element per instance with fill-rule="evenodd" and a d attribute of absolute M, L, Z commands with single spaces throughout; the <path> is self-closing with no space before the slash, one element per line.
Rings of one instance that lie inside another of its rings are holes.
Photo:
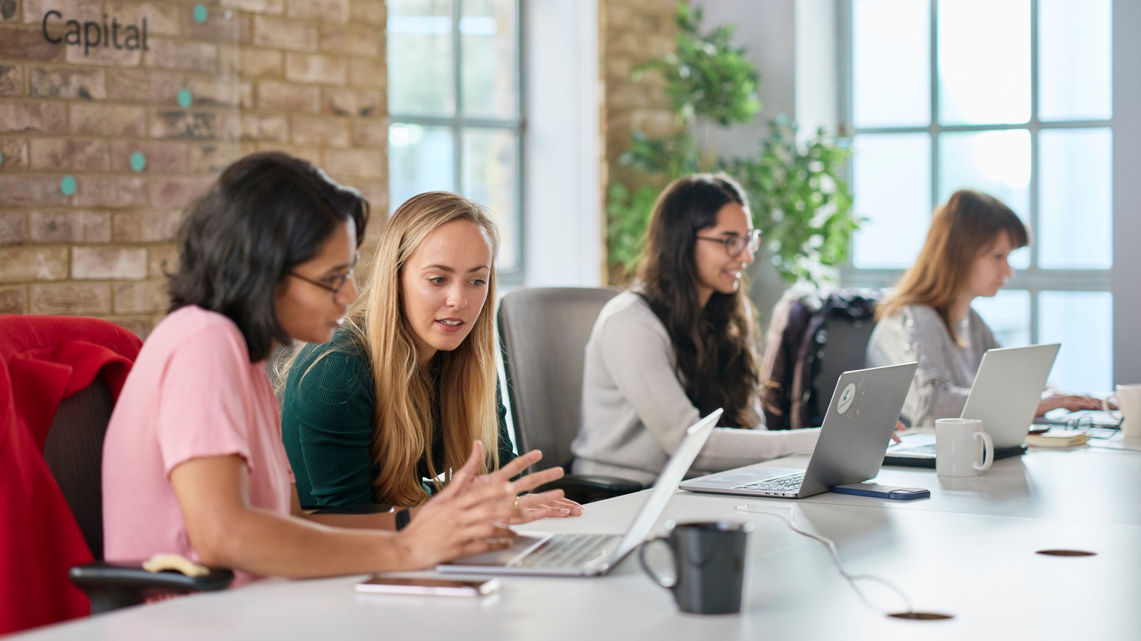
<path fill-rule="evenodd" d="M 731 294 L 697 299 L 697 232 L 717 225 L 729 203 L 748 208 L 745 192 L 723 173 L 679 178 L 654 203 L 639 279 L 644 298 L 673 343 L 678 379 L 686 396 L 706 415 L 725 408 L 725 425 L 746 428 L 759 417 L 752 398 L 759 374 L 753 309 L 742 284 Z"/>

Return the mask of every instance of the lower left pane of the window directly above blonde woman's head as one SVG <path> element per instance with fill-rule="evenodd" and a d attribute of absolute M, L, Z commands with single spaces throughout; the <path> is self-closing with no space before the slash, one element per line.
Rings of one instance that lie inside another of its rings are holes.
<path fill-rule="evenodd" d="M 394 122 L 388 128 L 389 209 L 423 192 L 455 190 L 452 130 Z"/>

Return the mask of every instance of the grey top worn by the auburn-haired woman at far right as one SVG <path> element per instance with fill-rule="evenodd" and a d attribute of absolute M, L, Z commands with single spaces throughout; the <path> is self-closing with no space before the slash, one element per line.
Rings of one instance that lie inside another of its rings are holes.
<path fill-rule="evenodd" d="M 904 421 L 912 427 L 933 425 L 936 419 L 961 415 L 982 355 L 1000 347 L 974 309 L 956 331 L 966 344 L 950 338 L 933 307 L 909 305 L 880 320 L 872 332 L 868 367 L 919 363 L 903 411 Z"/>

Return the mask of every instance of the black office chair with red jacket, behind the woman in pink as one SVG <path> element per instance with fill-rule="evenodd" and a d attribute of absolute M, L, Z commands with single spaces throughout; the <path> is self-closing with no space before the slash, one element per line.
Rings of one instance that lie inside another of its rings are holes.
<path fill-rule="evenodd" d="M 176 571 L 149 573 L 140 563 L 103 560 L 103 438 L 113 406 L 111 392 L 96 379 L 59 404 L 43 444 L 43 460 L 96 559 L 71 568 L 72 583 L 90 599 L 91 614 L 163 594 L 225 589 L 234 581 L 229 570 L 188 577 Z"/>

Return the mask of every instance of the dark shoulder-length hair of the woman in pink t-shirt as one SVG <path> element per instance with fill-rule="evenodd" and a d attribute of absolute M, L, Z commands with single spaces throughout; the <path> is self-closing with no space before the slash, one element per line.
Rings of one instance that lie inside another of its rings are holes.
<path fill-rule="evenodd" d="M 178 270 L 167 275 L 170 311 L 196 305 L 224 314 L 245 338 L 250 362 L 266 359 L 274 340 L 291 340 L 277 318 L 277 285 L 349 219 L 359 246 L 369 201 L 356 189 L 285 154 L 245 156 L 183 220 Z"/>

